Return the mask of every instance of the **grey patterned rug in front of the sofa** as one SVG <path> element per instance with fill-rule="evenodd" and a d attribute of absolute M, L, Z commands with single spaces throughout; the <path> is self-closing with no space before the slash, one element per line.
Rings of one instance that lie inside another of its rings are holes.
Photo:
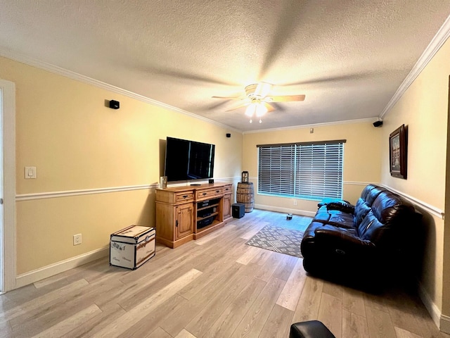
<path fill-rule="evenodd" d="M 300 230 L 266 225 L 245 244 L 303 258 L 300 253 L 302 238 L 303 232 Z"/>

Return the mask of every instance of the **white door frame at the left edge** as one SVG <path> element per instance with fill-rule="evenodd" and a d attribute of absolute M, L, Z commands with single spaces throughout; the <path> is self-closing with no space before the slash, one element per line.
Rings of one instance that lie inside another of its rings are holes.
<path fill-rule="evenodd" d="M 15 85 L 13 82 L 0 79 L 3 103 L 3 292 L 15 289 Z"/>

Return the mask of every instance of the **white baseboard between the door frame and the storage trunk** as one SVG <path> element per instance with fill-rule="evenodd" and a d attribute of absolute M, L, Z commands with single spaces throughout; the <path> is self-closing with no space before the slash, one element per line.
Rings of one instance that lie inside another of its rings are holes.
<path fill-rule="evenodd" d="M 82 255 L 66 259 L 51 265 L 44 266 L 37 270 L 32 270 L 29 273 L 23 273 L 15 277 L 15 287 L 25 287 L 25 285 L 32 284 L 44 278 L 63 273 L 67 270 L 77 268 L 79 265 L 95 261 L 96 259 L 103 258 L 109 255 L 109 245 L 104 248 L 83 253 Z"/>

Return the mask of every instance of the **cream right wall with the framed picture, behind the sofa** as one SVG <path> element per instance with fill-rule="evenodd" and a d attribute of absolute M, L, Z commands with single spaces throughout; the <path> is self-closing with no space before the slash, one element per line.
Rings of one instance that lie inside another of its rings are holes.
<path fill-rule="evenodd" d="M 445 189 L 449 58 L 450 42 L 446 42 L 385 116 L 381 163 L 383 184 L 442 210 L 449 194 Z M 389 173 L 389 134 L 402 124 L 409 129 L 407 180 L 391 177 Z M 445 234 L 450 224 L 424 213 L 428 235 L 420 282 L 435 306 L 442 308 L 442 314 L 449 315 L 450 238 Z M 443 303 L 442 299 L 447 301 Z"/>

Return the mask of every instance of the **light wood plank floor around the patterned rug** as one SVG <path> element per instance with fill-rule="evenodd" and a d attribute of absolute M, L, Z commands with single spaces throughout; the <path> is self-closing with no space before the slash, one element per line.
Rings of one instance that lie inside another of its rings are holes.
<path fill-rule="evenodd" d="M 288 337 L 319 319 L 336 337 L 450 337 L 417 296 L 373 295 L 307 276 L 302 259 L 245 242 L 268 224 L 308 218 L 255 210 L 138 270 L 108 258 L 0 296 L 0 337 Z"/>

